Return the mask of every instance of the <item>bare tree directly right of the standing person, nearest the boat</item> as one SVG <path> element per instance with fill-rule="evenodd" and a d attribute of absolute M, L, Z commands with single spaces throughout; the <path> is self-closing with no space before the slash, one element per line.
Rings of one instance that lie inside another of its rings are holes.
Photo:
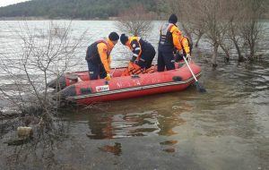
<path fill-rule="evenodd" d="M 170 13 L 178 14 L 181 26 L 189 38 L 192 35 L 197 37 L 195 46 L 202 36 L 209 40 L 213 46 L 213 67 L 217 66 L 216 58 L 220 40 L 225 34 L 225 25 L 221 22 L 222 4 L 220 1 L 213 0 L 169 0 Z M 222 46 L 225 49 L 224 46 Z"/>

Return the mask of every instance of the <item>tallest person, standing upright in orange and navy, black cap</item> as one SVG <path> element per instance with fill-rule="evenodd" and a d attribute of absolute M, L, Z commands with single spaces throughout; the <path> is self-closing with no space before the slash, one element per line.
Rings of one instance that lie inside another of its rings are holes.
<path fill-rule="evenodd" d="M 175 69 L 174 48 L 176 48 L 180 54 L 183 54 L 179 42 L 182 35 L 176 25 L 177 21 L 178 17 L 175 14 L 171 14 L 169 22 L 161 26 L 157 61 L 158 72 L 163 72 L 165 67 L 168 71 Z"/>

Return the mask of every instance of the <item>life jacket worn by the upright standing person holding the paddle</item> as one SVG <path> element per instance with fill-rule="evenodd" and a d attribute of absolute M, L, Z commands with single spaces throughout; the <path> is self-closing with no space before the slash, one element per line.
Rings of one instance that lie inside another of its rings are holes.
<path fill-rule="evenodd" d="M 173 26 L 174 26 L 173 23 L 165 23 L 164 25 L 161 26 L 160 41 L 159 41 L 161 45 L 174 47 L 173 36 L 172 36 L 172 33 L 170 32 Z"/>

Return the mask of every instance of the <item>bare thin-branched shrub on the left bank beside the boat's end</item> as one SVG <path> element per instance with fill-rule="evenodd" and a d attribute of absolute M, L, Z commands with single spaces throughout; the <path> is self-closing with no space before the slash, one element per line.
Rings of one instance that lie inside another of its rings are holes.
<path fill-rule="evenodd" d="M 47 29 L 35 31 L 25 21 L 14 30 L 21 46 L 0 55 L 0 71 L 6 78 L 0 86 L 0 99 L 21 113 L 18 117 L 38 117 L 42 127 L 52 130 L 56 130 L 52 115 L 57 114 L 57 102 L 49 95 L 47 83 L 75 65 L 74 56 L 85 34 L 71 38 L 71 25 L 72 22 L 65 26 L 50 22 Z"/>

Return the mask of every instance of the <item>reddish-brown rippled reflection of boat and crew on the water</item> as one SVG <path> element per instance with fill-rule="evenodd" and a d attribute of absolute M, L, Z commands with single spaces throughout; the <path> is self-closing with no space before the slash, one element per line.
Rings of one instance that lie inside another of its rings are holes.
<path fill-rule="evenodd" d="M 168 103 L 164 102 L 165 97 L 155 101 L 152 98 L 160 97 L 140 98 L 140 101 L 136 101 L 135 106 L 130 105 L 132 101 L 113 102 L 113 106 L 108 108 L 109 111 L 104 111 L 103 109 L 82 109 L 79 113 L 75 113 L 75 115 L 65 115 L 65 119 L 68 118 L 74 122 L 87 122 L 89 126 L 87 136 L 93 140 L 135 136 L 171 136 L 177 134 L 173 128 L 185 123 L 180 114 L 190 110 L 191 106 L 186 103 L 170 103 L 168 110 Z M 152 105 L 143 104 L 147 101 L 152 101 Z M 165 107 L 159 108 L 161 107 L 159 102 L 164 103 L 163 106 Z M 137 112 L 139 110 L 143 110 L 143 112 Z"/>

